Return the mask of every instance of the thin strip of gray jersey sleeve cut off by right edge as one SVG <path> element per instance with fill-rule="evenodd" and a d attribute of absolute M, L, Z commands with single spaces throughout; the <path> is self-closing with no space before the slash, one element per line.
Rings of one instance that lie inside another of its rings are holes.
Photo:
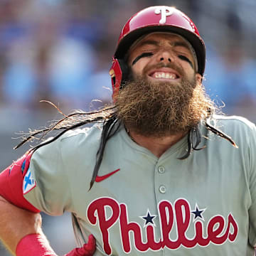
<path fill-rule="evenodd" d="M 246 135 L 246 134 L 245 134 Z M 256 247 L 256 127 L 252 127 L 250 134 L 248 159 L 250 166 L 250 195 L 251 206 L 249 209 L 249 242 Z"/>

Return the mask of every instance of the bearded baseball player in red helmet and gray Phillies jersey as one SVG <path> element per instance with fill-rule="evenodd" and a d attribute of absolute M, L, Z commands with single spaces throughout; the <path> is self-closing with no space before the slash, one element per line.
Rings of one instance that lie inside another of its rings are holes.
<path fill-rule="evenodd" d="M 39 212 L 67 210 L 78 245 L 94 255 L 254 255 L 255 124 L 217 114 L 205 64 L 186 14 L 134 14 L 110 68 L 113 105 L 64 117 L 48 129 L 60 134 L 1 173 L 6 246 L 55 255 Z"/>

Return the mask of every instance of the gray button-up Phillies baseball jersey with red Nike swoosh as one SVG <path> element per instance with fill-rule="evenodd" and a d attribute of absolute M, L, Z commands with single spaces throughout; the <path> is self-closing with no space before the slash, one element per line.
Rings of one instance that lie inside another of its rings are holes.
<path fill-rule="evenodd" d="M 95 255 L 254 255 L 255 124 L 215 122 L 239 148 L 201 124 L 206 148 L 184 160 L 187 137 L 157 158 L 120 128 L 91 190 L 102 129 L 67 132 L 33 154 L 24 196 L 50 215 L 72 213 L 78 245 L 92 233 Z"/>

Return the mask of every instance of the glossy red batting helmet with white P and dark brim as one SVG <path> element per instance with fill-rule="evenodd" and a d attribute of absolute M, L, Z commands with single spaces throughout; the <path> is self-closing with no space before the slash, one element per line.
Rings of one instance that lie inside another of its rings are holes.
<path fill-rule="evenodd" d="M 113 98 L 118 94 L 127 73 L 124 56 L 130 46 L 139 37 L 155 31 L 169 31 L 186 38 L 196 52 L 198 73 L 203 75 L 206 65 L 206 47 L 193 21 L 175 7 L 151 6 L 134 14 L 122 28 L 110 68 Z"/>

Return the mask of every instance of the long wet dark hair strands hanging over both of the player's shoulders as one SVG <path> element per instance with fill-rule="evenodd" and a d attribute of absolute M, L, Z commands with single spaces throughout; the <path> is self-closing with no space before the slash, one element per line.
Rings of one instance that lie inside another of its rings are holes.
<path fill-rule="evenodd" d="M 58 111 L 60 112 L 60 110 Z M 213 126 L 213 124 L 210 123 L 210 120 L 213 118 L 213 112 L 213 110 L 209 110 L 208 117 L 206 117 L 206 120 L 203 120 L 206 129 L 218 135 L 219 137 L 222 137 L 223 139 L 227 139 L 228 142 L 233 144 L 233 146 L 237 147 L 237 145 L 235 144 L 231 137 L 229 137 L 227 134 L 220 131 L 220 129 L 217 129 Z M 102 108 L 102 110 L 91 112 L 75 111 L 71 114 L 63 115 L 64 117 L 62 119 L 52 122 L 48 127 L 45 127 L 43 129 L 30 130 L 28 133 L 23 134 L 21 143 L 19 143 L 14 149 L 18 149 L 18 147 L 22 146 L 23 144 L 26 144 L 26 142 L 31 142 L 36 139 L 38 140 L 38 144 L 30 149 L 30 151 L 36 151 L 36 149 L 39 149 L 41 146 L 44 146 L 46 144 L 50 144 L 51 142 L 55 141 L 55 139 L 58 139 L 62 134 L 68 132 L 71 129 L 82 127 L 85 124 L 102 123 L 102 135 L 100 138 L 100 146 L 97 150 L 96 162 L 92 173 L 92 178 L 90 181 L 90 188 L 92 188 L 93 184 L 95 183 L 97 173 L 100 169 L 100 164 L 102 163 L 102 158 L 107 141 L 117 132 L 120 125 L 122 124 L 122 122 L 117 118 L 117 108 L 115 107 L 115 105 L 110 105 Z M 58 134 L 46 140 L 48 135 L 51 134 L 51 132 L 53 131 L 57 131 Z M 195 127 L 189 129 L 188 150 L 186 151 L 186 154 L 181 156 L 179 159 L 183 160 L 188 158 L 188 156 L 191 155 L 191 152 L 193 150 L 198 151 L 203 149 L 205 146 L 198 147 L 199 144 L 201 143 L 201 140 L 202 134 L 198 123 Z"/>

